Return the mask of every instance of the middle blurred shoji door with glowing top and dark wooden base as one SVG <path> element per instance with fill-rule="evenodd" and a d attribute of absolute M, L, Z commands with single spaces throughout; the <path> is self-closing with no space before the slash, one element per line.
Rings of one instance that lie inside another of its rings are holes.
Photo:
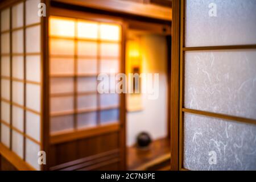
<path fill-rule="evenodd" d="M 124 95 L 115 93 L 115 81 L 104 80 L 109 93 L 97 89 L 101 73 L 115 76 L 124 70 L 122 27 L 121 21 L 104 15 L 51 9 L 51 170 L 124 167 Z M 84 164 L 74 166 L 77 159 Z"/>

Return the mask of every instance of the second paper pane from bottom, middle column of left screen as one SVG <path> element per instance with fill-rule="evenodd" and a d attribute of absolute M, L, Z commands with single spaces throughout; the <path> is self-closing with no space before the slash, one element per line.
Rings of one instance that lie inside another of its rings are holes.
<path fill-rule="evenodd" d="M 13 106 L 13 126 L 20 131 L 24 131 L 23 118 L 24 110 L 20 107 Z"/>

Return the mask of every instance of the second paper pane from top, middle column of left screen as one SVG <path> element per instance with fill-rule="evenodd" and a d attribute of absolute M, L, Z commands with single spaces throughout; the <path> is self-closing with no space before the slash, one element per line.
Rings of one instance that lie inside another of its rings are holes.
<path fill-rule="evenodd" d="M 12 33 L 12 51 L 13 53 L 23 53 L 23 30 L 16 30 Z"/>

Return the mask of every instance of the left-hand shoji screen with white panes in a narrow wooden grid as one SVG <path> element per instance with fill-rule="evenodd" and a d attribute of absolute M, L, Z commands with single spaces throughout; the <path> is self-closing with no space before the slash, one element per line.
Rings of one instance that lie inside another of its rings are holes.
<path fill-rule="evenodd" d="M 39 3 L 1 10 L 1 144 L 35 169 L 42 141 Z"/>

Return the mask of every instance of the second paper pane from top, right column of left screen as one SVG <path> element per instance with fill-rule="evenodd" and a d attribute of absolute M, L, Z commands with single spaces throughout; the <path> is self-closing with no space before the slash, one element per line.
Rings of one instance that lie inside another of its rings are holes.
<path fill-rule="evenodd" d="M 41 52 L 41 27 L 34 26 L 26 28 L 26 52 L 39 53 Z"/>

